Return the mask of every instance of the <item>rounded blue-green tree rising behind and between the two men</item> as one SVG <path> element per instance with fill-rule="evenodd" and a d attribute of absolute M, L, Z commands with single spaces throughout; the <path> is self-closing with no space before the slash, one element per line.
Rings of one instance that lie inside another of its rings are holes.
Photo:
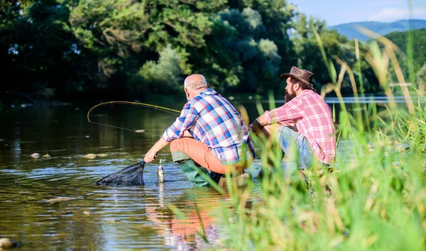
<path fill-rule="evenodd" d="M 226 9 L 214 19 L 202 62 L 214 87 L 227 91 L 267 91 L 279 81 L 281 56 L 267 37 L 261 14 L 251 8 Z"/>

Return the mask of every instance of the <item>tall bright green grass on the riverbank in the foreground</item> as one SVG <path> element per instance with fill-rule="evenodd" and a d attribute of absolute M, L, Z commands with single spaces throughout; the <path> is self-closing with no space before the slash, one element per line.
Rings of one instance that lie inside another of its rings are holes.
<path fill-rule="evenodd" d="M 324 52 L 318 38 L 319 48 Z M 380 49 L 378 43 L 384 45 Z M 356 46 L 358 48 L 358 46 Z M 364 96 L 362 83 L 345 62 L 337 72 L 323 53 L 335 82 L 324 86 L 342 98 L 340 86 L 349 74 L 356 95 Z M 366 57 L 389 99 L 388 74 L 400 74 L 393 45 L 372 42 Z M 393 67 L 390 67 L 392 65 Z M 359 77 L 359 79 L 362 79 Z M 411 79 L 407 76 L 407 79 Z M 361 88 L 360 88 L 361 87 Z M 375 105 L 356 104 L 354 112 L 341 99 L 337 135 L 341 145 L 334 172 L 314 163 L 309 182 L 297 172 L 288 177 L 280 166 L 280 150 L 263 138 L 253 138 L 274 167 L 266 170 L 261 193 L 229 186 L 230 200 L 216 212 L 224 225 L 223 247 L 231 250 L 425 250 L 426 248 L 426 98 L 417 85 L 403 89 L 407 104 L 390 101 L 384 111 Z M 358 94 L 357 89 L 361 90 Z M 411 100 L 410 93 L 421 98 Z M 422 102 L 423 103 L 422 103 Z M 271 102 L 270 106 L 273 106 Z M 259 113 L 263 112 L 258 105 Z M 350 143 L 350 144 L 347 144 Z M 268 145 L 269 144 L 269 145 Z M 297 152 L 288 156 L 295 160 Z M 275 158 L 275 159 L 274 159 Z M 317 175 L 322 170 L 322 176 Z M 332 194 L 327 193 L 331 187 Z"/>

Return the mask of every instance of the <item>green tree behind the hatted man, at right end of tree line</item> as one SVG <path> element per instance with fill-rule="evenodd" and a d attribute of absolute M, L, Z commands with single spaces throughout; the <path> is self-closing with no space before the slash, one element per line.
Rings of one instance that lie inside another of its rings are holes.
<path fill-rule="evenodd" d="M 297 66 L 314 73 L 314 82 L 317 84 L 318 91 L 320 91 L 322 85 L 333 82 L 333 79 L 324 62 L 320 45 L 313 33 L 314 30 L 320 35 L 327 59 L 331 60 L 337 74 L 339 74 L 341 69 L 339 60 L 342 60 L 346 62 L 354 74 L 363 76 L 363 83 L 367 85 L 364 87 L 364 91 L 378 91 L 378 81 L 364 57 L 361 57 L 361 72 L 359 72 L 359 67 L 356 65 L 354 40 L 348 40 L 344 35 L 339 34 L 337 30 L 329 30 L 325 21 L 312 16 L 307 18 L 304 13 L 297 14 L 294 27 L 291 39 L 298 56 Z M 359 47 L 362 56 L 366 52 L 366 46 L 359 44 Z M 339 60 L 337 60 L 337 57 Z M 359 90 L 360 82 L 356 81 L 356 84 L 358 84 L 357 89 Z M 342 93 L 352 93 L 351 82 L 347 74 L 342 83 Z"/>

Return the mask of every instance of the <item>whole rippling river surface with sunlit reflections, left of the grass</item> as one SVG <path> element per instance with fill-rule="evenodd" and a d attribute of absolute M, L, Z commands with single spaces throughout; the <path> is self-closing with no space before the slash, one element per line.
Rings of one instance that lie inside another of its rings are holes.
<path fill-rule="evenodd" d="M 250 119 L 256 118 L 256 106 L 246 107 Z M 193 187 L 172 162 L 168 147 L 146 164 L 144 186 L 96 185 L 107 174 L 143 160 L 176 115 L 108 105 L 90 116 L 93 122 L 145 130 L 135 133 L 89 123 L 88 109 L 38 106 L 0 113 L 0 238 L 15 240 L 22 250 L 220 249 L 230 237 L 215 213 L 229 195 Z M 40 157 L 31 157 L 33 153 Z M 87 159 L 87 154 L 98 156 Z M 164 184 L 155 177 L 160 160 Z M 286 167 L 294 163 L 284 160 Z M 247 170 L 254 177 L 259 169 L 257 158 Z M 260 182 L 254 182 L 252 194 L 260 191 Z M 176 216 L 170 204 L 187 220 Z M 207 241 L 199 234 L 201 225 Z"/>

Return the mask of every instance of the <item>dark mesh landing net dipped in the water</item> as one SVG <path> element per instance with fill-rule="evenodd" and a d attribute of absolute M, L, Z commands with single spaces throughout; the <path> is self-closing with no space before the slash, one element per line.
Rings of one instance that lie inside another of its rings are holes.
<path fill-rule="evenodd" d="M 143 169 L 145 168 L 145 162 L 139 162 L 132 164 L 130 167 L 119 170 L 109 174 L 102 179 L 99 179 L 97 185 L 109 185 L 109 186 L 141 186 L 143 185 Z"/>

